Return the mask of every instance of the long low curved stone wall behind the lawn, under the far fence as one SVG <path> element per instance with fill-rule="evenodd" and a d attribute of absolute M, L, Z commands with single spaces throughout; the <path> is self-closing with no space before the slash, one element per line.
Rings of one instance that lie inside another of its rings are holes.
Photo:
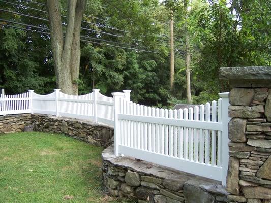
<path fill-rule="evenodd" d="M 33 130 L 62 133 L 97 146 L 108 147 L 114 142 L 113 127 L 102 123 L 43 114 L 0 117 L 0 134 Z"/>

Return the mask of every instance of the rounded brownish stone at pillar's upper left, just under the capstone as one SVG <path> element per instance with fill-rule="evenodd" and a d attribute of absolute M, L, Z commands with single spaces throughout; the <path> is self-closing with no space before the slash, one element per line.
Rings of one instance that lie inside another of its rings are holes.
<path fill-rule="evenodd" d="M 229 102 L 236 106 L 250 106 L 255 94 L 254 89 L 234 88 L 229 93 Z"/>

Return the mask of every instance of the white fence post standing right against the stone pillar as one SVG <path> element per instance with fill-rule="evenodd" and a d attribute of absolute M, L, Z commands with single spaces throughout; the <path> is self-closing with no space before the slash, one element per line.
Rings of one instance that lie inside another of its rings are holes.
<path fill-rule="evenodd" d="M 222 98 L 222 185 L 226 185 L 228 164 L 229 164 L 229 138 L 228 138 L 228 123 L 230 118 L 228 116 L 229 106 L 229 92 L 219 93 Z"/>

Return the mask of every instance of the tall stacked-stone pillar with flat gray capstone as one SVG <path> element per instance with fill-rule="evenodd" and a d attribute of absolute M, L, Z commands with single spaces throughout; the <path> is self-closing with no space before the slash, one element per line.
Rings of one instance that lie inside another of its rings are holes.
<path fill-rule="evenodd" d="M 271 202 L 271 66 L 223 67 L 228 80 L 229 202 Z"/>

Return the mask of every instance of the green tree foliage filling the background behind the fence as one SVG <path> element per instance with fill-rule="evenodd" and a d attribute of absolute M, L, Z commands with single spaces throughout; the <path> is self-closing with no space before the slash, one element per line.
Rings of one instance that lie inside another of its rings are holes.
<path fill-rule="evenodd" d="M 24 4 L 19 0 L 15 2 Z M 40 2 L 45 3 L 44 0 Z M 191 93 L 194 104 L 217 99 L 219 92 L 229 90 L 227 83 L 219 81 L 220 67 L 271 65 L 271 6 L 268 1 L 192 0 L 188 2 L 188 11 L 184 10 L 184 1 L 180 0 L 95 0 L 88 3 L 84 21 L 118 30 L 82 22 L 82 27 L 113 35 L 85 29 L 81 35 L 114 43 L 108 43 L 112 47 L 98 40 L 92 41 L 104 44 L 81 42 L 80 76 L 75 81 L 79 84 L 80 94 L 98 88 L 101 93 L 111 96 L 113 91 L 131 89 L 132 100 L 140 104 L 172 107 L 177 102 L 186 103 L 185 27 L 190 33 Z M 1 8 L 47 18 L 43 12 L 0 4 Z M 28 4 L 45 9 L 45 6 Z M 61 1 L 63 9 L 67 8 L 66 4 L 67 1 Z M 170 11 L 174 12 L 176 52 L 174 88 L 171 92 Z M 67 15 L 67 12 L 62 10 L 62 15 Z M 0 17 L 48 26 L 47 21 L 17 14 L 2 12 Z M 3 26 L 0 27 L 0 41 L 1 88 L 5 88 L 7 93 L 19 93 L 27 89 L 34 89 L 37 93 L 53 91 L 56 83 L 48 35 Z M 135 51 L 133 48 L 156 53 Z"/>

